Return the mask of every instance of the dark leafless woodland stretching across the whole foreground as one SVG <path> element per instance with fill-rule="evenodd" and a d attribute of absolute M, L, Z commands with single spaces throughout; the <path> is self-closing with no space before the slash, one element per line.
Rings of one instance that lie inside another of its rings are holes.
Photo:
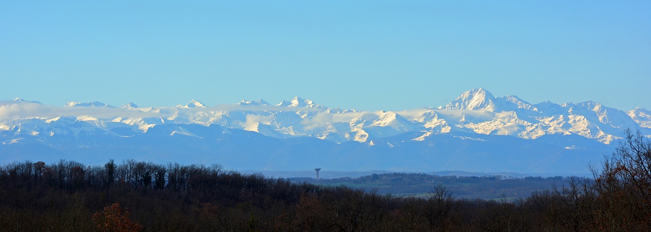
<path fill-rule="evenodd" d="M 0 166 L 0 231 L 650 231 L 651 143 L 516 201 L 423 197 L 242 175 L 218 165 L 109 160 Z"/>

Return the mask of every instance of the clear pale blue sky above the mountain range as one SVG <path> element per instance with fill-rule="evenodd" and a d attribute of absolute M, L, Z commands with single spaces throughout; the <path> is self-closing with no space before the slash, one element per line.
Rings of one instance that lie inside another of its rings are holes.
<path fill-rule="evenodd" d="M 0 100 L 651 109 L 649 1 L 1 1 Z"/>

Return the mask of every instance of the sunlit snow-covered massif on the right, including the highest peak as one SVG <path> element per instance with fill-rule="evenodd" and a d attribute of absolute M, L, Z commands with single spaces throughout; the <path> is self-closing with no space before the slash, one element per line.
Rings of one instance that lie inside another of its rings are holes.
<path fill-rule="evenodd" d="M 579 134 L 609 144 L 622 138 L 624 128 L 641 128 L 641 124 L 631 120 L 631 116 L 624 111 L 607 108 L 596 102 L 561 105 L 541 102 L 533 105 L 517 96 L 495 98 L 484 89 L 466 91 L 440 109 L 450 112 L 473 111 L 452 117 L 450 122 L 454 123 L 456 128 L 470 129 L 478 134 L 499 134 L 527 139 L 546 134 Z M 484 117 L 484 113 L 477 118 L 478 114 L 475 112 L 480 111 L 495 113 L 490 117 Z"/>

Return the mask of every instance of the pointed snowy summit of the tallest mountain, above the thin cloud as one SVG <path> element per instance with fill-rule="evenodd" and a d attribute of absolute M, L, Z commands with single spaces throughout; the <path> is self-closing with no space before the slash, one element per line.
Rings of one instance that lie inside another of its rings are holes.
<path fill-rule="evenodd" d="M 479 88 L 471 91 L 465 91 L 456 100 L 453 100 L 443 109 L 485 109 L 495 111 L 495 96 L 490 92 Z"/>

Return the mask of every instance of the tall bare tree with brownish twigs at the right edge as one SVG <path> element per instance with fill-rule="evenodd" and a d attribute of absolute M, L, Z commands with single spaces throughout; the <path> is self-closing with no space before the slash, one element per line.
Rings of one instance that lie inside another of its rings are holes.
<path fill-rule="evenodd" d="M 651 141 L 626 130 L 626 141 L 593 169 L 595 224 L 609 231 L 651 230 Z"/>

